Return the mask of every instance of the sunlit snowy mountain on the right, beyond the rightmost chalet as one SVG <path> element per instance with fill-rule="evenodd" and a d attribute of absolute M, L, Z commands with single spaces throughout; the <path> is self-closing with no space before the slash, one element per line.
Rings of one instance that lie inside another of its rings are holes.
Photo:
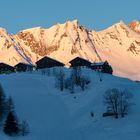
<path fill-rule="evenodd" d="M 113 67 L 114 75 L 140 79 L 140 34 L 119 22 L 104 31 L 91 31 L 91 38 L 102 60 Z"/>

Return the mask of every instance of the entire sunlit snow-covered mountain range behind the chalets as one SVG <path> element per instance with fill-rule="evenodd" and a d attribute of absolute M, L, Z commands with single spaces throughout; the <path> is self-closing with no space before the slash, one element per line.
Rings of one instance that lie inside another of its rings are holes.
<path fill-rule="evenodd" d="M 91 62 L 107 60 L 114 74 L 140 80 L 140 24 L 119 22 L 100 32 L 88 31 L 77 20 L 57 24 L 48 29 L 31 28 L 16 35 L 0 30 L 0 61 L 35 64 L 41 57 L 68 64 L 79 56 Z"/>

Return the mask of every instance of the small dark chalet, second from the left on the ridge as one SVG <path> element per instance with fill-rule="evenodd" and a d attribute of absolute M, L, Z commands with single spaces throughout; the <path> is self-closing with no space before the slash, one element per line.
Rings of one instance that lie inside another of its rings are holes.
<path fill-rule="evenodd" d="M 33 65 L 25 64 L 25 63 L 18 63 L 14 67 L 15 67 L 15 70 L 18 72 L 25 72 L 25 71 L 32 71 L 33 70 Z"/>

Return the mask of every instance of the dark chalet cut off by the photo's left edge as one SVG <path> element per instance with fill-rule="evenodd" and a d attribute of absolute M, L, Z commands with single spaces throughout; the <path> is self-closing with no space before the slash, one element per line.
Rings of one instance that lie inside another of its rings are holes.
<path fill-rule="evenodd" d="M 0 63 L 0 73 L 10 73 L 10 72 L 14 72 L 14 67 L 5 64 L 5 63 Z"/>

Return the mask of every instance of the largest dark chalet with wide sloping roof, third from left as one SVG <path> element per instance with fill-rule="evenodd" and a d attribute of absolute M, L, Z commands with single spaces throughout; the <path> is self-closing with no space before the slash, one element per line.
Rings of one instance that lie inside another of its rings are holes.
<path fill-rule="evenodd" d="M 36 62 L 37 65 L 37 69 L 43 69 L 43 68 L 51 68 L 51 67 L 63 67 L 64 64 L 52 59 L 50 57 L 43 57 L 42 59 L 40 59 L 39 61 Z"/>

